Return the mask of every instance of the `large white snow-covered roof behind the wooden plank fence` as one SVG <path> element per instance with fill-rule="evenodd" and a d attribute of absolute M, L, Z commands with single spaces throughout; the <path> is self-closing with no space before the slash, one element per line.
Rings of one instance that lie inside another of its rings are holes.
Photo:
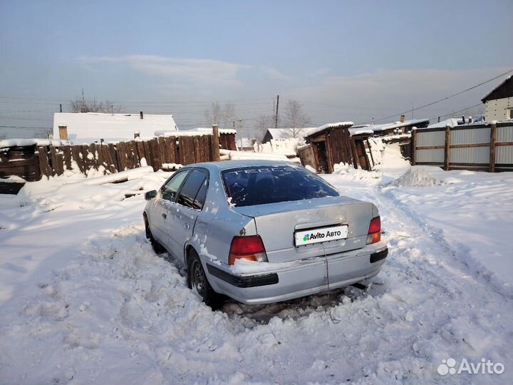
<path fill-rule="evenodd" d="M 66 125 L 68 138 L 75 143 L 93 143 L 100 139 L 121 141 L 152 138 L 155 130 L 177 130 L 172 115 L 142 115 L 139 113 L 55 113 L 53 138 L 59 138 L 59 125 Z"/>

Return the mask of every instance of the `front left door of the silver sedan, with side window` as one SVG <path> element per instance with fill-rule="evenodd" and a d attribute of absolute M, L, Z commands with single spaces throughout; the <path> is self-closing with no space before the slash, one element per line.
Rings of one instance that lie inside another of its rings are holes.
<path fill-rule="evenodd" d="M 157 197 L 152 200 L 150 208 L 150 230 L 153 237 L 169 249 L 169 223 L 170 212 L 178 195 L 178 190 L 190 170 L 178 171 L 160 188 Z"/>

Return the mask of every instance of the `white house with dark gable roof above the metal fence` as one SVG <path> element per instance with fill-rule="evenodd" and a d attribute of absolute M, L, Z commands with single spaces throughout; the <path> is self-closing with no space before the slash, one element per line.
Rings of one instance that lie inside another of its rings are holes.
<path fill-rule="evenodd" d="M 513 119 L 513 78 L 509 76 L 481 99 L 484 103 L 484 120 Z"/>

